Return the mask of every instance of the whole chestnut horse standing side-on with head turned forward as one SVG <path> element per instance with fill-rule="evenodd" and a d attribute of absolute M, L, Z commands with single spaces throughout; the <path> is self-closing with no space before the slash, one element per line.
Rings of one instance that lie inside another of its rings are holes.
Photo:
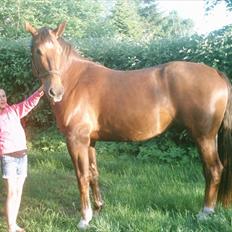
<path fill-rule="evenodd" d="M 204 64 L 181 61 L 134 71 L 112 70 L 83 59 L 61 38 L 64 29 L 65 23 L 55 29 L 36 29 L 26 23 L 32 35 L 32 71 L 52 102 L 75 168 L 81 201 L 79 227 L 85 228 L 92 219 L 90 187 L 95 208 L 103 205 L 95 142 L 150 139 L 175 121 L 190 131 L 203 163 L 206 185 L 200 216 L 213 213 L 217 200 L 230 205 L 232 91 L 228 78 Z"/>

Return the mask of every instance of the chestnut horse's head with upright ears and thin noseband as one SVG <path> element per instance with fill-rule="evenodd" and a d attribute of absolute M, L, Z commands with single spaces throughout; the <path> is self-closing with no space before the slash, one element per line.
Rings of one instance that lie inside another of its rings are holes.
<path fill-rule="evenodd" d="M 59 37 L 64 32 L 66 23 L 56 29 L 43 27 L 36 29 L 30 23 L 25 24 L 32 35 L 32 71 L 44 85 L 46 95 L 54 102 L 62 100 L 64 88 L 61 80 L 62 47 Z"/>

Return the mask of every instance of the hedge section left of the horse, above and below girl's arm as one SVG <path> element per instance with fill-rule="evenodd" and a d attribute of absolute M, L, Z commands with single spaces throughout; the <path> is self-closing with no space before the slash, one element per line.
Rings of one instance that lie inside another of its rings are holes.
<path fill-rule="evenodd" d="M 31 71 L 30 40 L 0 40 L 0 88 L 6 91 L 10 104 L 24 100 L 38 87 Z M 50 126 L 53 117 L 50 107 L 43 98 L 26 121 L 31 126 Z"/>

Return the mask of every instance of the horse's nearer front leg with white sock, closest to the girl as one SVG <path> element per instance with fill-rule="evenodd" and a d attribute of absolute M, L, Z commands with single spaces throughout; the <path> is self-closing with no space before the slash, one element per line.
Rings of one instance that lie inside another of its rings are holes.
<path fill-rule="evenodd" d="M 91 208 L 91 202 L 89 197 L 89 145 L 88 143 L 83 143 L 80 141 L 81 140 L 73 141 L 73 139 L 69 139 L 67 145 L 75 168 L 78 187 L 80 191 L 81 220 L 78 224 L 78 227 L 80 229 L 85 229 L 92 219 L 93 211 Z"/>

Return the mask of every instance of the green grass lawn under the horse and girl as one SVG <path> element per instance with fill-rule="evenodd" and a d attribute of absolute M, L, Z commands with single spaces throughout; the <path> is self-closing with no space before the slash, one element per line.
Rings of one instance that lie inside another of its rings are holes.
<path fill-rule="evenodd" d="M 30 145 L 29 174 L 19 215 L 19 223 L 29 232 L 78 231 L 76 178 L 65 144 L 61 138 L 56 139 L 59 146 L 46 136 L 43 143 Z M 105 207 L 87 231 L 232 231 L 232 209 L 217 207 L 216 214 L 207 221 L 196 220 L 204 192 L 198 162 L 165 164 L 131 154 L 116 155 L 118 146 L 97 146 Z M 4 198 L 5 194 L 1 194 L 1 232 L 6 231 L 2 217 Z"/>

